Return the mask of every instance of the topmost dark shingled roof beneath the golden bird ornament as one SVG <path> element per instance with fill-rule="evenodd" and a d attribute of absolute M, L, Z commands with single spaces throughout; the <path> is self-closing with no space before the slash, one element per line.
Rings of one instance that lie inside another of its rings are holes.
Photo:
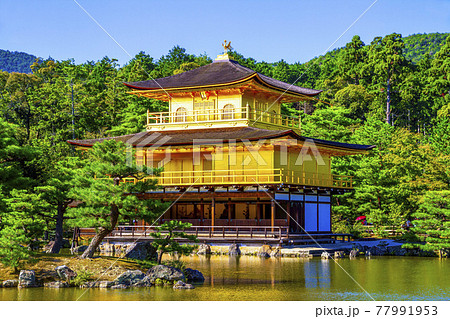
<path fill-rule="evenodd" d="M 288 92 L 296 94 L 314 96 L 322 92 L 320 90 L 306 89 L 297 85 L 291 85 L 289 83 L 272 79 L 268 76 L 257 73 L 252 69 L 242 66 L 233 60 L 213 62 L 197 69 L 165 78 L 139 82 L 124 82 L 124 84 L 129 88 L 136 90 L 182 89 L 198 86 L 227 84 L 250 77 L 256 77 L 262 84 L 274 86 L 283 91 L 287 90 Z"/>

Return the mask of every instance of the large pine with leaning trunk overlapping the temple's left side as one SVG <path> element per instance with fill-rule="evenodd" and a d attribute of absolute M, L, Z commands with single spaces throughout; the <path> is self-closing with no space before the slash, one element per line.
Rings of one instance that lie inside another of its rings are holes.
<path fill-rule="evenodd" d="M 134 159 L 134 155 L 129 157 Z M 142 177 L 142 171 L 152 172 L 152 169 L 138 167 L 134 160 L 129 162 L 125 143 L 106 140 L 96 143 L 87 152 L 84 166 L 75 171 L 70 196 L 81 204 L 69 209 L 68 216 L 74 218 L 76 226 L 97 229 L 81 258 L 93 257 L 102 240 L 121 220 L 151 221 L 167 206 L 159 201 L 139 198 L 146 191 L 156 189 L 156 180 L 138 180 L 136 184 L 125 182 L 125 178 Z"/>

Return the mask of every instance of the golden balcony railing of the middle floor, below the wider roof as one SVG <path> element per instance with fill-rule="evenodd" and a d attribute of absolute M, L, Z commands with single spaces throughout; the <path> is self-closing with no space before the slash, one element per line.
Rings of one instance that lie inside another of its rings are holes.
<path fill-rule="evenodd" d="M 353 188 L 351 176 L 296 172 L 284 169 L 245 169 L 212 171 L 162 172 L 157 178 L 160 186 L 205 186 L 205 185 L 266 185 L 285 184 L 329 188 Z M 127 178 L 125 182 L 135 183 Z"/>

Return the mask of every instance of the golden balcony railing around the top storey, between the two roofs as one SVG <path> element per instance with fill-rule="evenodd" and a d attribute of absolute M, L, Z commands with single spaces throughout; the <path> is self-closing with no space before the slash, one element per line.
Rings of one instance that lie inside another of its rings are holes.
<path fill-rule="evenodd" d="M 300 118 L 276 114 L 271 111 L 254 110 L 250 107 L 182 112 L 147 112 L 147 127 L 161 125 L 182 125 L 191 123 L 220 124 L 226 122 L 260 122 L 290 128 L 300 128 Z"/>

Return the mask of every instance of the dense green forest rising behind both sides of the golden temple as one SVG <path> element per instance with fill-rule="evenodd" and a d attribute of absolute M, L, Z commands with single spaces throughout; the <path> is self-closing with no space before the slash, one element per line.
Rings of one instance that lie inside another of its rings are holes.
<path fill-rule="evenodd" d="M 433 229 L 448 238 L 450 37 L 412 56 L 407 52 L 405 40 L 394 33 L 368 44 L 354 36 L 344 48 L 304 64 L 259 62 L 231 53 L 260 73 L 323 90 L 317 99 L 283 105 L 285 114 L 301 117 L 303 135 L 377 146 L 368 155 L 333 162 L 333 172 L 353 176 L 355 187 L 333 198 L 337 231 L 356 231 L 359 215 L 379 230 L 440 214 L 430 217 L 438 221 Z M 422 53 L 427 58 L 414 63 Z M 62 183 L 58 178 L 68 178 L 61 168 L 74 155 L 68 139 L 136 133 L 143 130 L 147 109 L 167 110 L 166 103 L 127 94 L 124 81 L 170 76 L 210 62 L 210 57 L 176 46 L 159 59 L 141 52 L 122 67 L 105 57 L 83 64 L 47 60 L 34 63 L 31 74 L 0 72 L 0 218 L 12 213 L 29 218 L 28 226 L 11 222 L 12 230 L 4 236 L 17 227 L 20 232 L 25 228 L 20 236 L 32 238 L 54 228 L 54 219 L 34 214 L 35 205 L 44 205 L 42 187 L 54 189 Z M 425 203 L 429 198 L 433 202 Z M 27 205 L 14 204 L 21 201 Z M 57 204 L 46 203 L 46 209 L 57 211 Z M 35 223 L 39 227 L 33 228 Z M 448 239 L 442 245 L 449 247 Z"/>

